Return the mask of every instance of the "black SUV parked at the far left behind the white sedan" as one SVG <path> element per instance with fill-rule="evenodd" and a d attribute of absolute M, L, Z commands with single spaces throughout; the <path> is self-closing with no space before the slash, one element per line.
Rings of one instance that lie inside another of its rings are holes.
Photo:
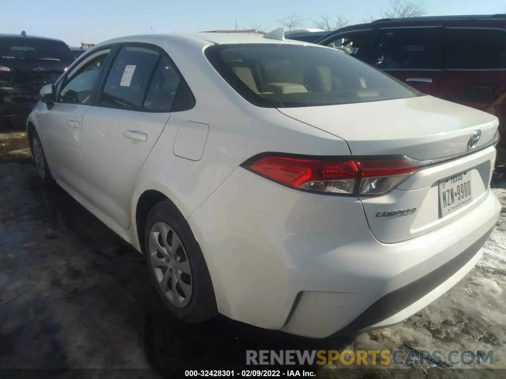
<path fill-rule="evenodd" d="M 59 39 L 0 34 L 0 128 L 24 124 L 40 88 L 54 83 L 73 61 Z"/>

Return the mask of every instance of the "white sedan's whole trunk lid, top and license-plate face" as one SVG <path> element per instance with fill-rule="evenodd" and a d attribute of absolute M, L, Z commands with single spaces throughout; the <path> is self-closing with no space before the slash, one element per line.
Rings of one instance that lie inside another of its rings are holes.
<path fill-rule="evenodd" d="M 345 139 L 354 156 L 405 155 L 424 161 L 427 166 L 388 194 L 359 197 L 371 232 L 383 243 L 409 240 L 463 217 L 490 192 L 495 149 L 487 145 L 498 121 L 487 113 L 429 96 L 279 111 Z M 476 130 L 481 137 L 470 149 Z"/>

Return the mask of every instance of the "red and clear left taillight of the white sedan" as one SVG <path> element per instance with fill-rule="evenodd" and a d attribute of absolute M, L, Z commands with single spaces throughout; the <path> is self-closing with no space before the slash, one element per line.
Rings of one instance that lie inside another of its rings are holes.
<path fill-rule="evenodd" d="M 267 155 L 242 167 L 284 185 L 335 195 L 378 196 L 419 169 L 404 156 L 315 159 Z"/>

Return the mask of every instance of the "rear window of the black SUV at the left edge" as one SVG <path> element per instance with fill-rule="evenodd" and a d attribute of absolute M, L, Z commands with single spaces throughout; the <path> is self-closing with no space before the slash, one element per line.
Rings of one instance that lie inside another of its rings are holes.
<path fill-rule="evenodd" d="M 74 56 L 64 42 L 19 37 L 0 38 L 0 59 L 72 62 Z"/>

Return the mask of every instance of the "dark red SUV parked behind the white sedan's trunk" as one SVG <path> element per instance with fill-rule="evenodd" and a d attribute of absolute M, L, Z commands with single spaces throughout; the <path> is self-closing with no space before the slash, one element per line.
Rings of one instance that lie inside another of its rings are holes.
<path fill-rule="evenodd" d="M 506 15 L 382 19 L 315 43 L 339 48 L 421 92 L 494 114 L 505 131 Z"/>

